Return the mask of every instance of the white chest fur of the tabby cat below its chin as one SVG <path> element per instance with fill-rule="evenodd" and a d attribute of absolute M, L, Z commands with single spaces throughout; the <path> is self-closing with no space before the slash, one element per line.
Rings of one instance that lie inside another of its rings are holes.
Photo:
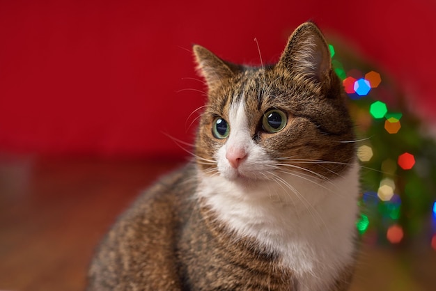
<path fill-rule="evenodd" d="M 198 195 L 237 233 L 279 253 L 299 290 L 326 290 L 352 263 L 359 165 L 329 182 L 281 179 L 242 186 L 221 176 L 201 177 Z"/>

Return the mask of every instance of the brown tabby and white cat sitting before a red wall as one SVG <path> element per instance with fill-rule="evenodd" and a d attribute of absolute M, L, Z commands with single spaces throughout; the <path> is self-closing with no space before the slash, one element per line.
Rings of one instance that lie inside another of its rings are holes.
<path fill-rule="evenodd" d="M 274 65 L 193 51 L 208 86 L 194 158 L 116 221 L 88 290 L 347 290 L 359 165 L 318 26 L 295 29 Z"/>

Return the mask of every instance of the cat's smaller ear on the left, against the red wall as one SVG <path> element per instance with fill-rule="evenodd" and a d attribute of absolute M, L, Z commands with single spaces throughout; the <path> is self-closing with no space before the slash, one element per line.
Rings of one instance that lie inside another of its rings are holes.
<path fill-rule="evenodd" d="M 233 77 L 238 71 L 238 65 L 221 60 L 201 45 L 194 45 L 192 50 L 198 65 L 197 69 L 205 78 L 209 88 L 214 88 L 221 84 L 224 79 Z"/>

